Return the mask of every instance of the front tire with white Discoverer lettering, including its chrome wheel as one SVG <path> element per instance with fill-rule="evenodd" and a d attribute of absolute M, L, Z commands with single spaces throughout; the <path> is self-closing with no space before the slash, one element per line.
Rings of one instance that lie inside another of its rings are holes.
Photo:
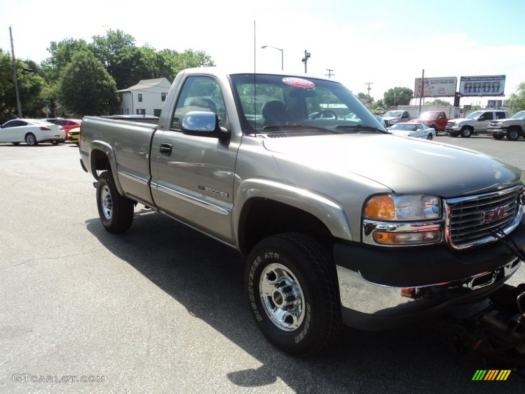
<path fill-rule="evenodd" d="M 337 273 L 311 237 L 285 233 L 259 242 L 249 255 L 246 289 L 257 326 L 282 351 L 310 356 L 339 336 Z"/>

